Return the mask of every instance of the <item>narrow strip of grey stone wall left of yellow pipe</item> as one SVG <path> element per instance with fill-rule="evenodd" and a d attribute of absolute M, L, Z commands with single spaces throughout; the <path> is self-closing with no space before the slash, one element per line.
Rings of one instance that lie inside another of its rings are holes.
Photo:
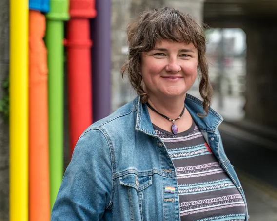
<path fill-rule="evenodd" d="M 9 73 L 9 0 L 0 0 L 0 99 Z M 0 221 L 9 220 L 9 127 L 0 117 Z"/>

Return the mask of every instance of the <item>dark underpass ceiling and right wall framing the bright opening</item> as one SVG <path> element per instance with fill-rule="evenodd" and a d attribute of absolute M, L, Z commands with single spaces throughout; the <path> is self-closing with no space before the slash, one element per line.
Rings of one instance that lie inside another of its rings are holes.
<path fill-rule="evenodd" d="M 234 10 L 235 9 L 235 10 Z M 277 129 L 277 5 L 275 1 L 206 0 L 204 22 L 214 28 L 241 28 L 246 34 L 245 119 Z"/>

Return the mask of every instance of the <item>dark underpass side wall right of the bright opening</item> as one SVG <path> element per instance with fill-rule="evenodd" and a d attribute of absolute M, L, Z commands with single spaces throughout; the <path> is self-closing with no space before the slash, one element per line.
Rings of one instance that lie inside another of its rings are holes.
<path fill-rule="evenodd" d="M 245 118 L 277 129 L 277 25 L 252 22 L 245 25 L 247 74 Z"/>

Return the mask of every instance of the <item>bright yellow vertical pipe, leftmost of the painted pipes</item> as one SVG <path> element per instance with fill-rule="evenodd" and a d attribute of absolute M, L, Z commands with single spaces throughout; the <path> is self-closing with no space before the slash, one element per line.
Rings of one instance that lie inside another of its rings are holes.
<path fill-rule="evenodd" d="M 10 0 L 10 221 L 28 221 L 28 0 Z"/>

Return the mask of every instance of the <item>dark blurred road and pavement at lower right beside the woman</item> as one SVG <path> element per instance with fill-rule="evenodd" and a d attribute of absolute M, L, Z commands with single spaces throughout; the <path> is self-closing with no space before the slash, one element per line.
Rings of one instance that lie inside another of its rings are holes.
<path fill-rule="evenodd" d="M 236 124 L 222 123 L 219 130 L 244 189 L 250 221 L 277 221 L 277 142 Z"/>

